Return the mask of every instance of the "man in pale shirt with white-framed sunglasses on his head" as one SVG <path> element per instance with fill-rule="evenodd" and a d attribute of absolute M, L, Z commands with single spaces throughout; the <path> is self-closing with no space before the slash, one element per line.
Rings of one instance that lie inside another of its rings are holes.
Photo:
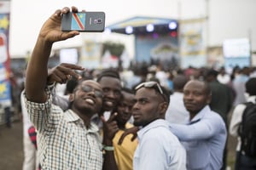
<path fill-rule="evenodd" d="M 143 128 L 137 132 L 133 169 L 186 169 L 185 150 L 164 120 L 169 104 L 166 89 L 157 82 L 143 82 L 137 86 L 135 98 L 134 125 Z"/>

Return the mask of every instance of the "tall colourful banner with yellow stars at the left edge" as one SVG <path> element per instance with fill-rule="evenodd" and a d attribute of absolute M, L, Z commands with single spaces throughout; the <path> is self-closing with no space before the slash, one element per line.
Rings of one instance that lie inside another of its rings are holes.
<path fill-rule="evenodd" d="M 9 16 L 10 2 L 0 1 L 0 104 L 10 106 Z"/>

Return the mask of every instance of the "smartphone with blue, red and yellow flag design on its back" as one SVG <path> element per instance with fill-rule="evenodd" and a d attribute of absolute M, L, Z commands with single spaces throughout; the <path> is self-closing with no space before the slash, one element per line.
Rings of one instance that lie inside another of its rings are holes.
<path fill-rule="evenodd" d="M 61 18 L 61 31 L 102 32 L 104 29 L 104 12 L 69 12 Z"/>

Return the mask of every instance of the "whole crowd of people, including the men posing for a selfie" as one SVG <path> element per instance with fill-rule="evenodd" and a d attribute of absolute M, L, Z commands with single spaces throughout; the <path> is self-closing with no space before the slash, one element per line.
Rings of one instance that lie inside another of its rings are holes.
<path fill-rule="evenodd" d="M 255 71 L 48 68 L 53 44 L 79 36 L 61 31 L 70 11 L 78 8 L 57 9 L 45 21 L 26 68 L 23 169 L 225 169 L 228 133 L 240 139 L 243 104 L 255 104 Z M 236 162 L 236 170 L 256 168 L 240 143 Z"/>

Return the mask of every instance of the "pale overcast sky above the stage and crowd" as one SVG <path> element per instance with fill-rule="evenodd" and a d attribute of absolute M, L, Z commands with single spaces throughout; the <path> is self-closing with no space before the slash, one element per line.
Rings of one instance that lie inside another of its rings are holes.
<path fill-rule="evenodd" d="M 255 0 L 11 0 L 10 55 L 22 56 L 32 51 L 44 21 L 55 9 L 71 6 L 104 11 L 106 26 L 138 15 L 193 19 L 208 14 L 208 45 L 220 46 L 226 38 L 250 37 L 253 50 L 256 50 Z M 79 45 L 84 36 L 57 42 L 54 47 Z"/>

